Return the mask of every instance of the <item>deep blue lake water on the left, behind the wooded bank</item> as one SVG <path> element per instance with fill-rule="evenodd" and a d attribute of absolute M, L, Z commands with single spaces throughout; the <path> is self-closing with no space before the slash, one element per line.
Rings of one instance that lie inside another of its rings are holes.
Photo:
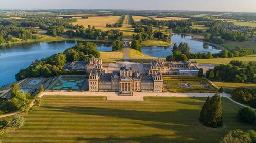
<path fill-rule="evenodd" d="M 36 42 L 0 46 L 0 87 L 15 82 L 15 74 L 27 68 L 35 59 L 42 59 L 63 52 L 77 42 Z M 96 43 L 99 51 L 111 51 L 109 43 Z"/>

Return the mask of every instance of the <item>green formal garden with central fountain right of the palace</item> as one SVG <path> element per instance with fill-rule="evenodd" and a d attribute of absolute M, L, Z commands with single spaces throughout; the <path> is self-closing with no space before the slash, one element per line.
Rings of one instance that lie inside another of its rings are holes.
<path fill-rule="evenodd" d="M 209 80 L 198 77 L 163 77 L 163 83 L 169 92 L 217 92 L 218 89 Z"/>

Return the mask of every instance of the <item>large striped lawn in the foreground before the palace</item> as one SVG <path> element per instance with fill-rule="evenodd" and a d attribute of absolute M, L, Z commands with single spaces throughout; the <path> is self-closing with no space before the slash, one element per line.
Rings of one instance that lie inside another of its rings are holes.
<path fill-rule="evenodd" d="M 206 98 L 147 97 L 105 101 L 105 97 L 44 96 L 45 105 L 22 115 L 25 126 L 6 130 L 3 142 L 218 142 L 233 129 L 254 129 L 237 119 L 240 108 L 222 98 L 221 128 L 199 121 Z"/>

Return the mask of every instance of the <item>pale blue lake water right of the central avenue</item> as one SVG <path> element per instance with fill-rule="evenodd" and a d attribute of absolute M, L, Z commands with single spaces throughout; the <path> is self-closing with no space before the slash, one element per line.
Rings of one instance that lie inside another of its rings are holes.
<path fill-rule="evenodd" d="M 213 45 L 204 44 L 202 41 L 194 40 L 193 37 L 183 34 L 173 34 L 172 42 L 177 43 L 177 46 L 179 46 L 181 42 L 188 43 L 191 53 L 207 53 L 208 51 L 211 53 L 218 53 L 221 51 L 216 49 Z M 142 46 L 142 52 L 152 57 L 167 57 L 172 54 L 173 46 L 174 44 L 168 47 Z"/>

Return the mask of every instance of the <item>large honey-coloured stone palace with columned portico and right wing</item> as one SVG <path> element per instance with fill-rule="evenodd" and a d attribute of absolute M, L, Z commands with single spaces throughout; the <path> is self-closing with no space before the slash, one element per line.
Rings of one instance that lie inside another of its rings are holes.
<path fill-rule="evenodd" d="M 141 74 L 127 65 L 106 73 L 102 59 L 93 57 L 85 69 L 89 73 L 89 91 L 132 95 L 133 92 L 162 92 L 162 75 L 198 75 L 196 66 L 196 62 L 165 62 L 158 58 L 151 61 L 148 73 Z"/>

